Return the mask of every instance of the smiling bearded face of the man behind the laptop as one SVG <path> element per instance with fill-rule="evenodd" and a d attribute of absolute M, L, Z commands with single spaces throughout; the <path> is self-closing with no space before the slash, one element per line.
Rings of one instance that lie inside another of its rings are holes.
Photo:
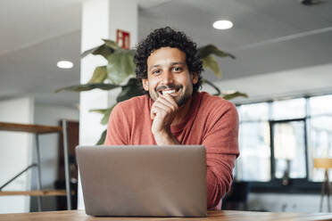
<path fill-rule="evenodd" d="M 142 83 L 154 101 L 167 93 L 180 107 L 193 94 L 197 80 L 195 73 L 189 73 L 186 53 L 178 48 L 162 47 L 147 58 L 147 79 L 142 79 Z"/>

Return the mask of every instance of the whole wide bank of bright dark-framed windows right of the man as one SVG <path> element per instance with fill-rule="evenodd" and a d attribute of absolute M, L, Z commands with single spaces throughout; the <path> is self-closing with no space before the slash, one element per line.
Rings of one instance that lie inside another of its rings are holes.
<path fill-rule="evenodd" d="M 237 106 L 237 180 L 321 182 L 313 158 L 332 158 L 332 94 Z M 330 171 L 332 176 L 332 171 Z"/>

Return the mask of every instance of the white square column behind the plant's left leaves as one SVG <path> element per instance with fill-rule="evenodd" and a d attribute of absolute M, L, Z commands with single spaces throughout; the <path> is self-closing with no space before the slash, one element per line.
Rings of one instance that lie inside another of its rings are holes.
<path fill-rule="evenodd" d="M 81 52 L 103 44 L 102 38 L 115 41 L 116 30 L 130 33 L 130 47 L 137 44 L 136 0 L 87 0 L 82 7 Z M 107 62 L 102 56 L 88 55 L 81 61 L 80 82 L 87 83 L 96 66 Z M 115 101 L 115 93 L 95 89 L 80 93 L 79 144 L 94 145 L 105 127 L 100 125 L 102 115 L 89 112 L 104 109 Z M 79 185 L 79 209 L 84 209 Z"/>

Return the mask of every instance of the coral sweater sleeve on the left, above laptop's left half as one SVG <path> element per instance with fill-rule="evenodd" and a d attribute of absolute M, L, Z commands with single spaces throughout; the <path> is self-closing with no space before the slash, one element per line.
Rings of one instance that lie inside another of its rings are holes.
<path fill-rule="evenodd" d="M 122 111 L 121 103 L 112 110 L 107 126 L 105 145 L 126 145 L 129 142 L 127 119 Z"/>

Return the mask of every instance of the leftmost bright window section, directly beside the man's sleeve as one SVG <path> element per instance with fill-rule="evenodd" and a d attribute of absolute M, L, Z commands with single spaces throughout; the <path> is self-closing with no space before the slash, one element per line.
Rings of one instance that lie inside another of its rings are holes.
<path fill-rule="evenodd" d="M 238 180 L 270 180 L 269 104 L 243 105 L 239 109 L 239 143 L 241 156 L 237 160 Z"/>

